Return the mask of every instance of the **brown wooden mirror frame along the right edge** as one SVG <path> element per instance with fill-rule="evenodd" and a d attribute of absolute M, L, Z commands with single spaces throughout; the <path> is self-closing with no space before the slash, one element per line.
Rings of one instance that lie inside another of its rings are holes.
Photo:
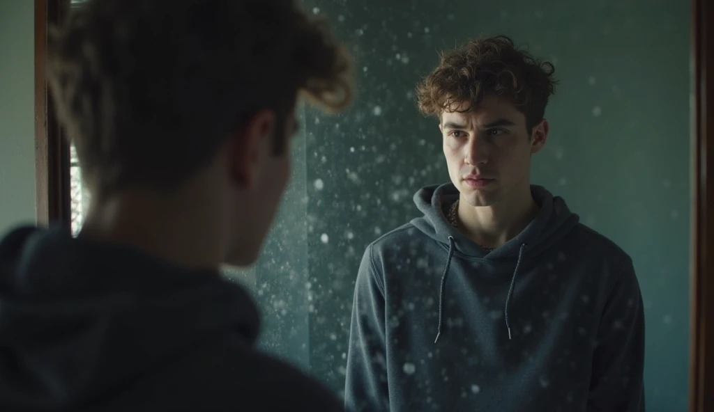
<path fill-rule="evenodd" d="M 714 4 L 692 0 L 690 412 L 714 411 Z M 707 391 L 707 388 L 710 388 Z"/>

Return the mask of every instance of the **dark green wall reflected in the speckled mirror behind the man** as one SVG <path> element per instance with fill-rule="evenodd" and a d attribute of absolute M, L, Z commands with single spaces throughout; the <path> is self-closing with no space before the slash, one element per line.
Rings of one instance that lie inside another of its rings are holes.
<path fill-rule="evenodd" d="M 255 268 L 262 345 L 340 392 L 353 282 L 368 242 L 417 215 L 448 180 L 435 120 L 413 86 L 437 51 L 508 34 L 555 63 L 560 86 L 533 181 L 628 251 L 647 329 L 650 412 L 685 411 L 688 386 L 688 2 L 305 0 L 357 60 L 341 116 L 301 109 L 293 182 Z"/>

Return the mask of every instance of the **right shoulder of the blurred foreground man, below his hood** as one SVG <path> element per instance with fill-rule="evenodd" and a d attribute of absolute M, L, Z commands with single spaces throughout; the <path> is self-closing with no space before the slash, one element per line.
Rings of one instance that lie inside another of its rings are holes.
<path fill-rule="evenodd" d="M 321 383 L 233 336 L 193 348 L 143 383 L 177 411 L 343 411 Z"/>

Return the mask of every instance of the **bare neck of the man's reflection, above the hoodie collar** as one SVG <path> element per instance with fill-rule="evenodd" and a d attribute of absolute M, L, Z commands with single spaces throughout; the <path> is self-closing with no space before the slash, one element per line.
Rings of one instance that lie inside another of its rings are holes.
<path fill-rule="evenodd" d="M 491 206 L 473 207 L 460 201 L 458 225 L 464 235 L 476 244 L 496 248 L 521 233 L 537 213 L 538 205 L 529 186 L 528 190 Z"/>

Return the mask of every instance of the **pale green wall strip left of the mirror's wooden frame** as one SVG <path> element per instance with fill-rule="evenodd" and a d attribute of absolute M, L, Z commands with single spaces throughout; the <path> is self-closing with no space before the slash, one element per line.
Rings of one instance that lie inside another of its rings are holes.
<path fill-rule="evenodd" d="M 35 220 L 34 1 L 0 1 L 0 232 Z"/>

